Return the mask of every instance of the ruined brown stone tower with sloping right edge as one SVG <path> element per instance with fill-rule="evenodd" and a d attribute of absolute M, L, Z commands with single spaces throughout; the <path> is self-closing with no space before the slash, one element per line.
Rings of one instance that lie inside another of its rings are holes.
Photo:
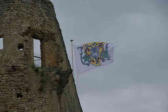
<path fill-rule="evenodd" d="M 0 112 L 82 112 L 49 0 L 0 0 L 0 39 Z M 41 42 L 41 67 L 33 39 Z"/>

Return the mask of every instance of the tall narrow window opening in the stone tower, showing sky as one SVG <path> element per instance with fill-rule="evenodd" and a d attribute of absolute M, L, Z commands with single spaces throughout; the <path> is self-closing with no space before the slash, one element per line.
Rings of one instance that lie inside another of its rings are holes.
<path fill-rule="evenodd" d="M 33 39 L 33 51 L 34 51 L 34 65 L 41 67 L 41 41 Z"/>

